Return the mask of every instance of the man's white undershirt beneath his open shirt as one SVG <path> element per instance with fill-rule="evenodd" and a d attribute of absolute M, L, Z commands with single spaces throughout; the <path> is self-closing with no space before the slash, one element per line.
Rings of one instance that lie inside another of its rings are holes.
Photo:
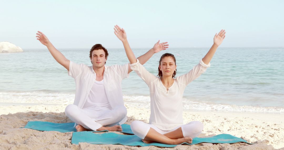
<path fill-rule="evenodd" d="M 83 109 L 92 109 L 95 111 L 111 109 L 110 103 L 108 102 L 108 98 L 106 96 L 104 80 L 95 80 Z"/>

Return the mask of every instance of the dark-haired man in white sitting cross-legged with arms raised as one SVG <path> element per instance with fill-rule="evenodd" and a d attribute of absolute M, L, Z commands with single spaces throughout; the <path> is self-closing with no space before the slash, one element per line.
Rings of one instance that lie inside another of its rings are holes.
<path fill-rule="evenodd" d="M 74 104 L 66 107 L 65 114 L 75 122 L 77 132 L 122 131 L 120 124 L 126 122 L 127 111 L 123 102 L 121 82 L 132 71 L 130 64 L 105 66 L 108 51 L 101 44 L 95 44 L 90 50 L 92 66 L 76 64 L 66 59 L 42 32 L 38 31 L 36 37 L 47 47 L 53 58 L 68 70 L 68 75 L 75 79 Z M 127 41 L 126 33 L 118 38 Z M 159 42 L 137 58 L 141 64 L 147 62 L 154 53 L 168 48 L 168 42 Z"/>

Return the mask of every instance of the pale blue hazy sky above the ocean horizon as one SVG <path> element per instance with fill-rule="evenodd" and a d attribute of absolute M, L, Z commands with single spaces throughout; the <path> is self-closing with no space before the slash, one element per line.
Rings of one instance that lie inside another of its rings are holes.
<path fill-rule="evenodd" d="M 215 33 L 226 30 L 220 47 L 284 47 L 284 1 L 41 1 L 0 0 L 0 42 L 22 49 L 46 48 L 43 32 L 60 48 L 96 43 L 123 48 L 114 25 L 124 28 L 132 48 L 211 47 Z"/>

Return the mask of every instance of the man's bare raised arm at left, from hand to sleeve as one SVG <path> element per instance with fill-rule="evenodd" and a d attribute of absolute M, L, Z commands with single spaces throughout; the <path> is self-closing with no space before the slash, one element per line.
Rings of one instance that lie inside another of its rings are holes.
<path fill-rule="evenodd" d="M 45 34 L 40 31 L 37 32 L 37 40 L 39 40 L 43 45 L 45 45 L 53 56 L 53 58 L 69 71 L 70 61 L 66 59 L 65 56 L 52 45 L 52 43 L 48 40 Z"/>

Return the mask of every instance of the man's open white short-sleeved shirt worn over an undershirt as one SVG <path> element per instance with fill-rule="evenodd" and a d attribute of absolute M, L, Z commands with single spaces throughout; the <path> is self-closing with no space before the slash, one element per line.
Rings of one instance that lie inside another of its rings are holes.
<path fill-rule="evenodd" d="M 121 82 L 122 79 L 128 78 L 129 76 L 128 65 L 129 63 L 124 65 L 105 66 L 103 80 L 106 96 L 112 109 L 118 106 L 124 106 Z M 73 104 L 82 109 L 96 80 L 96 73 L 93 66 L 76 64 L 70 61 L 68 75 L 75 79 L 76 84 L 75 100 Z M 126 120 L 127 116 L 119 123 L 123 124 Z"/>

